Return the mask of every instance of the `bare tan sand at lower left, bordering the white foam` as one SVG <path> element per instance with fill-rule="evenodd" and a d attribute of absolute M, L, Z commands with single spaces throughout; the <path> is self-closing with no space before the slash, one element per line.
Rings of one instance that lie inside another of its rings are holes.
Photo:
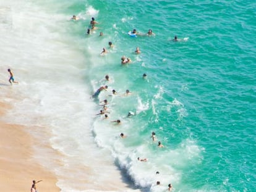
<path fill-rule="evenodd" d="M 10 106 L 0 102 L 0 115 Z M 33 159 L 33 138 L 26 127 L 0 122 L 0 191 L 30 191 L 32 180 L 43 180 L 38 191 L 60 191 L 57 178 Z"/>

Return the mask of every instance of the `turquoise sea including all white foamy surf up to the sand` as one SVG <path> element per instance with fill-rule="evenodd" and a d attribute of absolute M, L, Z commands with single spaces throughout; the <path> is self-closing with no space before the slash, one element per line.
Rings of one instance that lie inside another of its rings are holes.
<path fill-rule="evenodd" d="M 4 120 L 62 153 L 58 166 L 35 154 L 62 191 L 124 191 L 118 175 L 139 191 L 255 190 L 254 1 L 0 2 L 0 94 L 14 104 Z M 96 115 L 104 99 L 108 119 Z"/>

